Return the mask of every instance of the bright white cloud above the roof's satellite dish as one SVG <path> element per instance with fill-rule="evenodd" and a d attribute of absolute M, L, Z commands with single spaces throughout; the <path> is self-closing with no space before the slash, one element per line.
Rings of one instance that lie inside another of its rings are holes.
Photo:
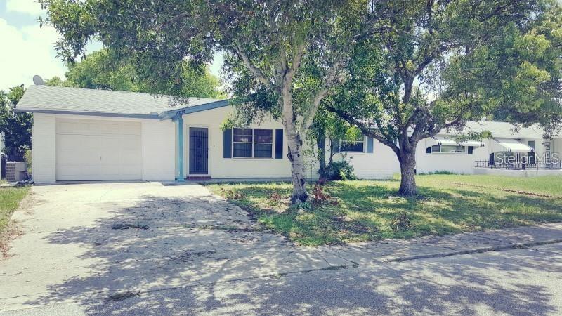
<path fill-rule="evenodd" d="M 0 18 L 0 39 L 5 44 L 0 49 L 0 89 L 19 84 L 30 86 L 34 74 L 44 79 L 64 78 L 66 67 L 53 48 L 57 38 L 58 33 L 53 27 L 41 29 L 39 25 L 28 25 L 16 28 Z"/>

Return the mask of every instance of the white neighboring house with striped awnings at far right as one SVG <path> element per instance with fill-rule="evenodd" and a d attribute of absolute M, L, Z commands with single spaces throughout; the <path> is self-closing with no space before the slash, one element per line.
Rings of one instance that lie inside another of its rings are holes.
<path fill-rule="evenodd" d="M 522 128 L 498 121 L 470 121 L 460 134 L 490 131 L 492 138 L 456 143 L 457 131 L 441 131 L 421 140 L 417 147 L 417 172 L 449 171 L 465 174 L 537 176 L 562 174 L 558 152 L 562 138 L 544 139 L 539 127 Z M 521 171 L 521 172 L 520 172 Z"/>

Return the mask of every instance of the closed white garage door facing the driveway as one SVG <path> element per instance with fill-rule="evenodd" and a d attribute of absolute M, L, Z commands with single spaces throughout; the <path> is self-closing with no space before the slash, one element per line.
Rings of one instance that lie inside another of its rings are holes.
<path fill-rule="evenodd" d="M 57 180 L 140 180 L 141 123 L 57 121 Z"/>

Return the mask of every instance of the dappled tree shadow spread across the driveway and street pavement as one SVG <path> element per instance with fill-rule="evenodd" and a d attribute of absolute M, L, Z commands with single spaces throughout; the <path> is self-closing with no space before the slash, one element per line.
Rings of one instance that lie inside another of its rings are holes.
<path fill-rule="evenodd" d="M 507 287 L 501 281 L 557 270 L 554 254 L 504 253 L 501 261 L 481 255 L 472 261 L 442 258 L 423 265 L 286 275 L 315 266 L 317 252 L 300 251 L 262 232 L 240 209 L 212 197 L 142 197 L 99 218 L 95 228 L 78 226 L 47 238 L 60 251 L 83 251 L 61 282 L 27 303 L 71 299 L 89 314 L 556 312 L 545 287 L 519 281 Z M 82 260 L 96 263 L 72 270 Z"/>

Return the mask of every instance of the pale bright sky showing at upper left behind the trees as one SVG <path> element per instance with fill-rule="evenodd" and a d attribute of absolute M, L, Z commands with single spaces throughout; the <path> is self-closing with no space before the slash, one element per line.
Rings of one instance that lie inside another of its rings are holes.
<path fill-rule="evenodd" d="M 33 84 L 35 74 L 43 79 L 65 77 L 65 62 L 56 57 L 58 32 L 51 26 L 39 27 L 45 16 L 37 0 L 0 0 L 0 90 Z M 100 43 L 86 47 L 87 52 L 101 48 Z M 223 58 L 216 55 L 211 73 L 220 77 Z"/>

